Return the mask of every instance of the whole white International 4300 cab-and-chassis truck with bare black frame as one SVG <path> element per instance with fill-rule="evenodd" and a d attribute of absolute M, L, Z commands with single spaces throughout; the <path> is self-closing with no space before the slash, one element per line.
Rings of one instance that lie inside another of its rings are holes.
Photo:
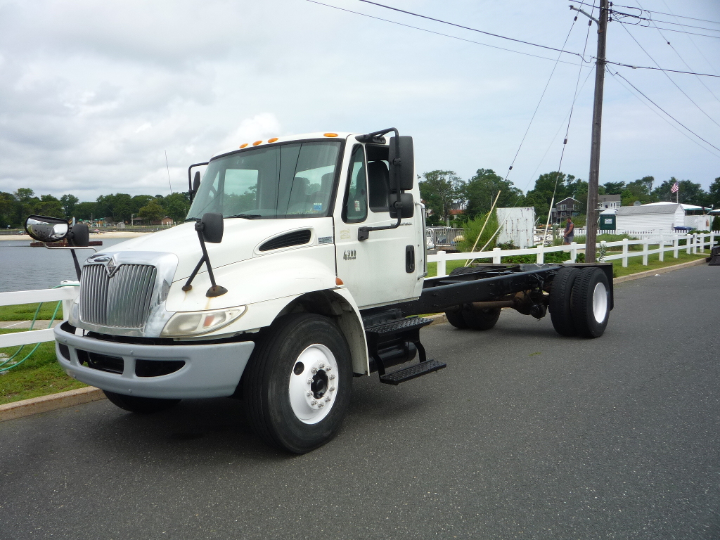
<path fill-rule="evenodd" d="M 55 328 L 60 365 L 135 413 L 242 399 L 264 441 L 304 453 L 338 431 L 353 377 L 399 384 L 446 366 L 426 358 L 431 320 L 418 315 L 489 330 L 503 307 L 536 318 L 549 307 L 559 333 L 602 335 L 611 265 L 427 278 L 415 178 L 413 140 L 394 128 L 258 140 L 190 166 L 184 224 L 76 265 L 78 300 Z M 87 246 L 84 225 L 31 216 L 26 230 Z"/>

